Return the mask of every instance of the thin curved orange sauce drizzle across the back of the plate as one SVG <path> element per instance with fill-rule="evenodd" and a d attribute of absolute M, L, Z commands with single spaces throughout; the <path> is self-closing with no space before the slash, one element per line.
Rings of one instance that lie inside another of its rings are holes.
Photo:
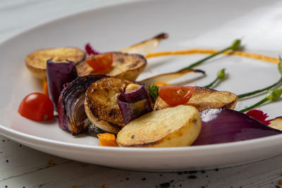
<path fill-rule="evenodd" d="M 188 55 L 188 54 L 215 54 L 216 52 L 218 52 L 218 50 L 214 50 L 214 49 L 187 49 L 187 50 L 179 50 L 179 51 L 159 51 L 159 52 L 148 54 L 146 58 L 152 58 L 157 56 Z M 242 56 L 245 58 L 254 58 L 269 63 L 276 63 L 276 64 L 279 63 L 278 58 L 264 56 L 261 54 L 253 54 L 245 51 L 226 51 L 223 52 L 223 54 Z"/>

